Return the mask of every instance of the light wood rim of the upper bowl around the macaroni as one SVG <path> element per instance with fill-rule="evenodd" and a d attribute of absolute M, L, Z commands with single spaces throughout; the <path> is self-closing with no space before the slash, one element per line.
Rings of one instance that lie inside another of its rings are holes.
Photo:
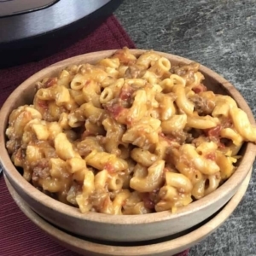
<path fill-rule="evenodd" d="M 147 49 L 131 49 L 131 53 L 135 55 L 140 55 Z M 79 209 L 75 207 L 71 207 L 61 203 L 60 201 L 55 201 L 50 198 L 48 195 L 44 195 L 44 193 L 40 192 L 38 189 L 34 188 L 31 183 L 27 183 L 26 180 L 20 175 L 19 172 L 15 169 L 15 166 L 11 162 L 9 158 L 9 154 L 5 148 L 5 139 L 4 139 L 4 121 L 9 117 L 9 105 L 11 102 L 15 101 L 16 98 L 20 96 L 22 90 L 25 90 L 29 84 L 34 84 L 34 81 L 38 81 L 47 76 L 48 73 L 53 71 L 60 71 L 63 67 L 67 67 L 68 65 L 74 63 L 82 63 L 89 60 L 94 60 L 95 58 L 103 58 L 109 55 L 113 55 L 116 49 L 112 50 L 103 50 L 94 53 L 84 54 L 74 56 L 64 61 L 57 62 L 49 67 L 46 67 L 39 71 L 38 73 L 33 74 L 30 78 L 26 79 L 20 86 L 18 86 L 9 96 L 9 98 L 4 102 L 3 107 L 0 111 L 0 162 L 3 166 L 3 172 L 7 175 L 7 177 L 15 183 L 15 186 L 18 186 L 20 189 L 24 190 L 28 195 L 30 195 L 33 200 L 40 201 L 40 203 L 44 204 L 45 207 L 49 207 L 56 212 L 61 212 L 67 216 L 71 216 L 73 218 L 81 219 L 81 220 L 89 220 L 96 223 L 105 223 L 105 224 L 148 224 L 148 223 L 157 223 L 162 222 L 164 220 L 176 219 L 182 216 L 186 216 L 191 212 L 203 211 L 204 208 L 209 207 L 212 203 L 217 202 L 220 198 L 225 195 L 229 195 L 229 193 L 234 190 L 237 186 L 241 184 L 244 178 L 247 176 L 247 173 L 250 170 L 250 167 L 253 165 L 253 161 L 255 159 L 256 154 L 256 146 L 253 143 L 247 143 L 246 154 L 241 160 L 240 165 L 238 166 L 236 172 L 218 189 L 213 191 L 211 194 L 201 198 L 198 201 L 194 201 L 186 207 L 180 208 L 176 213 L 171 213 L 169 211 L 165 212 L 155 212 L 148 213 L 143 215 L 108 215 L 99 212 L 87 212 L 81 213 Z M 191 60 L 177 56 L 171 55 L 159 51 L 155 51 L 160 55 L 166 56 L 166 58 L 182 63 L 189 64 Z M 212 78 L 216 79 L 219 84 L 223 84 L 226 90 L 230 91 L 231 96 L 236 98 L 236 102 L 238 102 L 240 108 L 242 108 L 248 115 L 251 123 L 255 125 L 255 120 L 253 117 L 253 113 L 247 102 L 241 96 L 240 92 L 236 90 L 236 88 L 230 84 L 226 79 L 213 72 L 211 69 L 204 67 L 201 65 L 200 68 L 202 73 L 207 73 Z M 212 212 L 213 213 L 213 212 Z"/>

